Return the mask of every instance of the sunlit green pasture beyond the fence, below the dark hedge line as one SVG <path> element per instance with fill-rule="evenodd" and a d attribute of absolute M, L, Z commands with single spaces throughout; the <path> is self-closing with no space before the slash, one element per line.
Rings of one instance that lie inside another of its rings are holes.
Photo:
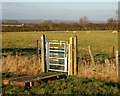
<path fill-rule="evenodd" d="M 78 36 L 78 48 L 91 46 L 96 52 L 112 52 L 112 47 L 118 49 L 118 34 L 112 31 L 56 31 L 56 32 L 4 32 L 2 33 L 2 48 L 36 48 L 36 40 L 41 39 L 41 35 L 46 35 L 46 40 L 65 40 L 69 41 L 70 36 Z"/>

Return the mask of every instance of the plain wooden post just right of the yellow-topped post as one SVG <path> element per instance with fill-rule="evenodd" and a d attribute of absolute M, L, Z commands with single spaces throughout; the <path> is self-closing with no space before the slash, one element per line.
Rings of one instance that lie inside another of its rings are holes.
<path fill-rule="evenodd" d="M 77 74 L 77 36 L 74 37 L 74 75 Z"/>

